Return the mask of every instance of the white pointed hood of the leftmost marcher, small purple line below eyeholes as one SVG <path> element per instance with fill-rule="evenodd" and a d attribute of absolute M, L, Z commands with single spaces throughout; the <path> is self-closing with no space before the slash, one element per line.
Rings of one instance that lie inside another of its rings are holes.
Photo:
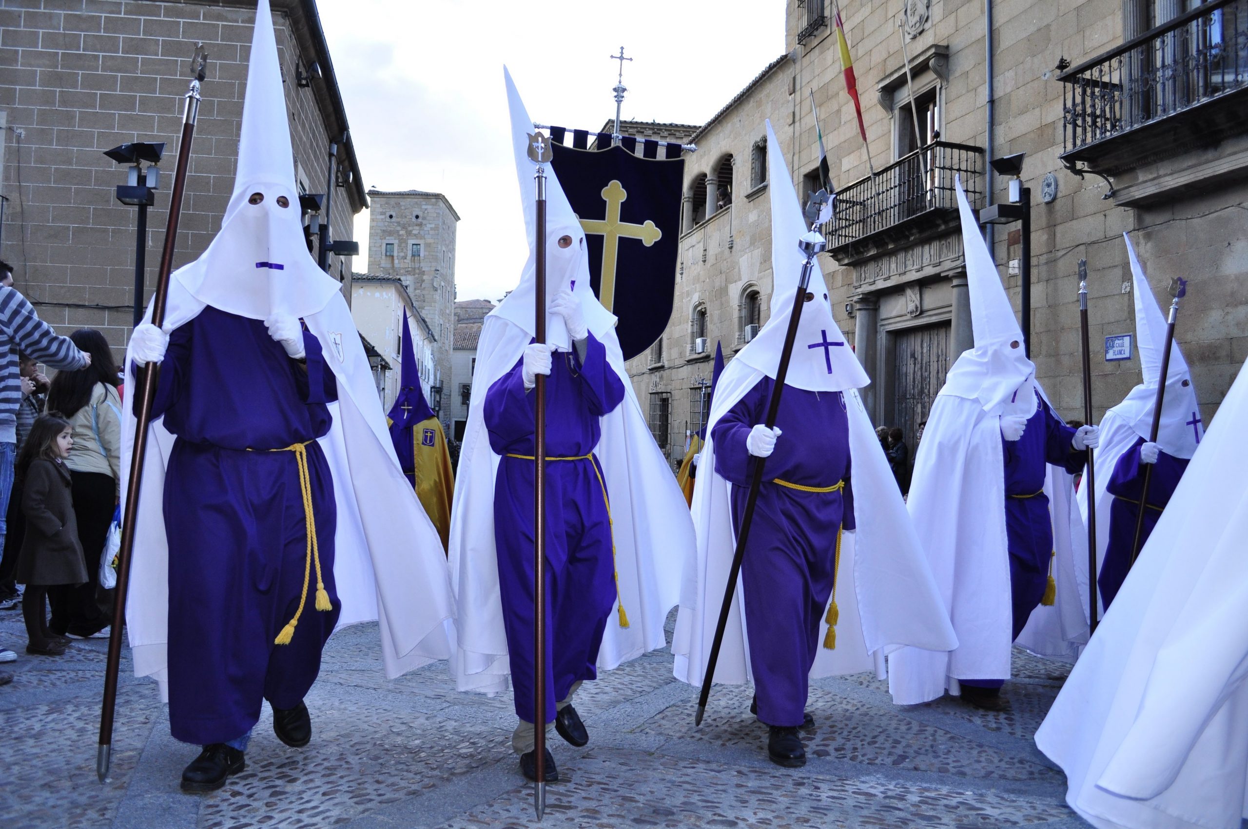
<path fill-rule="evenodd" d="M 314 313 L 342 288 L 303 238 L 268 0 L 256 9 L 233 195 L 216 238 L 175 277 L 200 302 L 253 320 Z"/>

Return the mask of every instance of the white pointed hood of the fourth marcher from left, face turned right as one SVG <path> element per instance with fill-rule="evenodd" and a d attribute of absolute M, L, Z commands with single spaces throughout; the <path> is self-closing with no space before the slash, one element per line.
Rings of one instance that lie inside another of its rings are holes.
<path fill-rule="evenodd" d="M 966 201 L 961 180 L 955 180 L 955 186 L 975 348 L 958 356 L 941 393 L 977 400 L 990 414 L 1030 416 L 1036 408 L 1032 390 L 1040 391 L 1035 382 L 1036 366 L 1027 358 L 1022 330 L 988 246 L 980 236 L 980 225 Z"/>

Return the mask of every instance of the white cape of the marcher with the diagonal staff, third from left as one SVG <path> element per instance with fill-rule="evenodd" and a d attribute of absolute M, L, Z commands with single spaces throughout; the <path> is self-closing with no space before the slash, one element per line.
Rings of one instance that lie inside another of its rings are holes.
<path fill-rule="evenodd" d="M 761 371 L 740 360 L 724 370 L 715 387 L 706 442 L 698 464 L 701 474 L 693 501 L 698 556 L 686 564 L 671 643 L 676 678 L 694 685 L 701 684 L 705 675 L 736 544 L 731 484 L 715 472 L 713 429 L 763 377 Z M 846 532 L 841 542 L 835 593 L 840 609 L 836 649 L 820 648 L 811 668 L 812 678 L 872 669 L 882 677 L 884 655 L 892 648 L 915 645 L 947 650 L 957 645 L 862 400 L 855 388 L 842 393 L 849 414 L 857 529 Z M 715 667 L 715 682 L 719 683 L 753 680 L 744 591 L 744 582 L 738 582 Z M 826 633 L 826 614 L 821 632 Z"/>

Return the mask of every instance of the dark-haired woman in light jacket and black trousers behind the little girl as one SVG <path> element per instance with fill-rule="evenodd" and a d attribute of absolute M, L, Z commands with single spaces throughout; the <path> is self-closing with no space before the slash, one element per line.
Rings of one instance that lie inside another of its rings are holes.
<path fill-rule="evenodd" d="M 117 363 L 107 340 L 95 328 L 79 328 L 74 343 L 91 355 L 91 365 L 62 371 L 52 378 L 49 411 L 60 412 L 74 429 L 74 448 L 65 466 L 74 489 L 74 513 L 82 542 L 89 581 L 49 591 L 56 634 L 87 638 L 109 627 L 112 591 L 100 591 L 100 554 L 112 513 L 120 503 L 121 397 Z"/>

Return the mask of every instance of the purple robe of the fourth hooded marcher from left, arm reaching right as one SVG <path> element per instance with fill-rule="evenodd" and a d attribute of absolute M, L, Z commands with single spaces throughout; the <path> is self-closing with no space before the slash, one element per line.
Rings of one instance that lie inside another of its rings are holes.
<path fill-rule="evenodd" d="M 1013 635 L 1027 625 L 1031 612 L 1045 598 L 1048 564 L 1053 557 L 1053 523 L 1045 494 L 1048 466 L 1071 474 L 1083 468 L 1086 452 L 1076 452 L 1075 428 L 1062 422 L 1037 395 L 1036 412 L 1017 441 L 1001 438 L 1006 474 L 1006 543 L 1010 551 L 1010 594 Z M 1000 688 L 1001 679 L 962 679 L 963 685 Z"/>

